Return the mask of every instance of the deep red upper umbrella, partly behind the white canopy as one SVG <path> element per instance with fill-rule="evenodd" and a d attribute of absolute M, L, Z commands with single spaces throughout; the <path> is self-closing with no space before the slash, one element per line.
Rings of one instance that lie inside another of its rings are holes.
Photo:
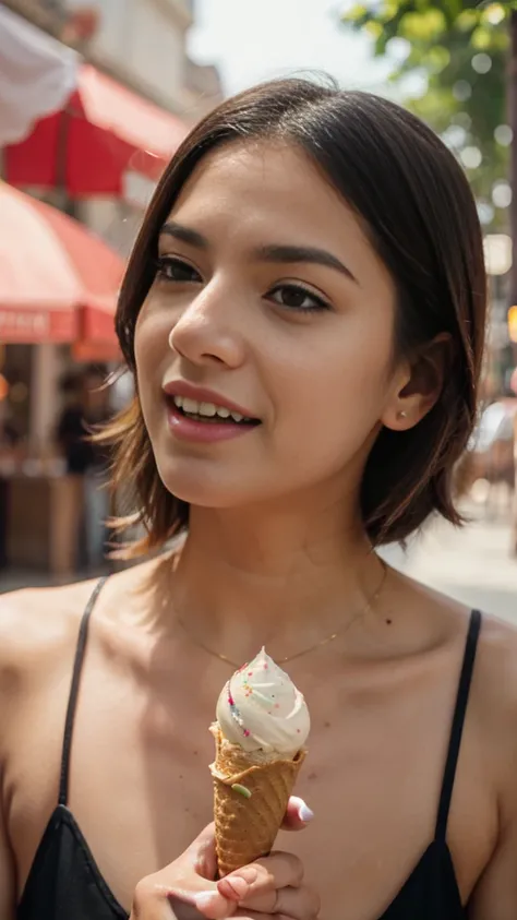
<path fill-rule="evenodd" d="M 188 130 L 181 119 L 82 64 L 64 108 L 5 147 L 4 175 L 12 186 L 63 188 L 75 199 L 122 196 L 125 174 L 157 180 Z"/>

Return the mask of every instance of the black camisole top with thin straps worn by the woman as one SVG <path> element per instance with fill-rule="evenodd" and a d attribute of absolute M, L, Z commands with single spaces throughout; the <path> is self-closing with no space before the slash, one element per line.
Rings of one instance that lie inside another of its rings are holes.
<path fill-rule="evenodd" d="M 16 911 L 17 920 L 129 918 L 103 879 L 68 805 L 70 752 L 88 622 L 104 582 L 97 584 L 81 621 L 64 727 L 59 802 L 34 858 Z M 446 832 L 480 628 L 481 614 L 474 610 L 470 617 L 459 678 L 434 838 L 378 920 L 466 920 L 467 912 L 461 905 Z M 336 917 L 338 913 L 337 908 Z"/>

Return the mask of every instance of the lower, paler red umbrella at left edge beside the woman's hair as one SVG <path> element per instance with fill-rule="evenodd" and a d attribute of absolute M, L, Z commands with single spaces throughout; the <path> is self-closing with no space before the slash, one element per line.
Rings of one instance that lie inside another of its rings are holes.
<path fill-rule="evenodd" d="M 123 271 L 77 220 L 0 182 L 0 342 L 115 343 Z"/>

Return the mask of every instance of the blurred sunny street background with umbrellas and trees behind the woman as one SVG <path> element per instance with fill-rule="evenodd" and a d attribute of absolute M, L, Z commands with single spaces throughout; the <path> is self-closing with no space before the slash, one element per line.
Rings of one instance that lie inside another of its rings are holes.
<path fill-rule="evenodd" d="M 0 2 L 0 592 L 109 571 L 109 457 L 132 396 L 115 333 L 160 174 L 231 93 L 323 72 L 406 105 L 456 154 L 484 234 L 481 405 L 464 528 L 389 562 L 517 622 L 517 2 Z M 514 193 L 513 193 L 514 192 Z"/>

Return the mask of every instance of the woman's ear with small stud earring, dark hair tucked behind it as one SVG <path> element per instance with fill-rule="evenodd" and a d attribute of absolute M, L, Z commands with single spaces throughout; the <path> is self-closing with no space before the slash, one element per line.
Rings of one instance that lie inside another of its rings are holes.
<path fill-rule="evenodd" d="M 453 362 L 453 340 L 442 333 L 420 346 L 395 375 L 381 421 L 393 431 L 414 428 L 437 403 Z"/>

